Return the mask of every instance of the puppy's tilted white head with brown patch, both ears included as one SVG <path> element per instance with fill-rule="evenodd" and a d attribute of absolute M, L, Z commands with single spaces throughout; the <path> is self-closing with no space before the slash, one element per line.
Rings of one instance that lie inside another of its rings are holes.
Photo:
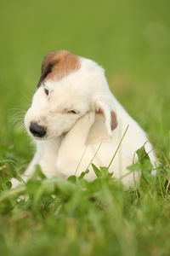
<path fill-rule="evenodd" d="M 28 133 L 39 139 L 59 137 L 88 111 L 104 115 L 111 136 L 117 125 L 116 109 L 103 68 L 66 50 L 48 53 L 26 113 Z"/>

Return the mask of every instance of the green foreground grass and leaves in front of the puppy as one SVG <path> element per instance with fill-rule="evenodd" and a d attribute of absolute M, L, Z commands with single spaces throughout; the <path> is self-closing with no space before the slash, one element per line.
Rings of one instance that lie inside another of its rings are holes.
<path fill-rule="evenodd" d="M 16 189 L 1 177 L 1 255 L 167 255 L 169 184 L 162 166 L 158 178 L 150 175 L 144 148 L 138 154 L 143 172 L 136 190 L 125 191 L 106 167 L 94 165 L 92 183 L 87 172 L 65 182 L 47 179 L 38 166 Z"/>

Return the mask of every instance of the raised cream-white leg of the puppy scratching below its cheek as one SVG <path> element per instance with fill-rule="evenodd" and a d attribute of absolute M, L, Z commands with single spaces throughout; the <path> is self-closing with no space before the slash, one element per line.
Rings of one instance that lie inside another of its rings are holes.
<path fill-rule="evenodd" d="M 76 171 L 78 161 L 87 148 L 88 133 L 94 120 L 94 112 L 85 114 L 64 137 L 56 161 L 57 172 L 61 177 L 67 177 Z"/>

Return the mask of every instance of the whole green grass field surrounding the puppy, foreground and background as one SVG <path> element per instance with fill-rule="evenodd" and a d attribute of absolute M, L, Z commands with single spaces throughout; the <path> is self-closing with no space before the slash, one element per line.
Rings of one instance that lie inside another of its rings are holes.
<path fill-rule="evenodd" d="M 166 0 L 1 1 L 0 255 L 169 255 L 169 9 Z M 88 183 L 47 180 L 38 167 L 10 189 L 33 155 L 21 123 L 51 49 L 105 67 L 111 90 L 148 132 L 157 178 L 145 157 L 139 188 L 126 192 L 106 169 Z"/>

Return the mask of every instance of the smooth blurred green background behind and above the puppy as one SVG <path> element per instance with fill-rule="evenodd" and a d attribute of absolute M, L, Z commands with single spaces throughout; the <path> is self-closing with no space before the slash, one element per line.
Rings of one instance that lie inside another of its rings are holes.
<path fill-rule="evenodd" d="M 115 96 L 169 158 L 169 14 L 166 0 L 1 1 L 1 145 L 30 159 L 11 119 L 30 105 L 43 56 L 69 49 L 105 67 Z"/>

